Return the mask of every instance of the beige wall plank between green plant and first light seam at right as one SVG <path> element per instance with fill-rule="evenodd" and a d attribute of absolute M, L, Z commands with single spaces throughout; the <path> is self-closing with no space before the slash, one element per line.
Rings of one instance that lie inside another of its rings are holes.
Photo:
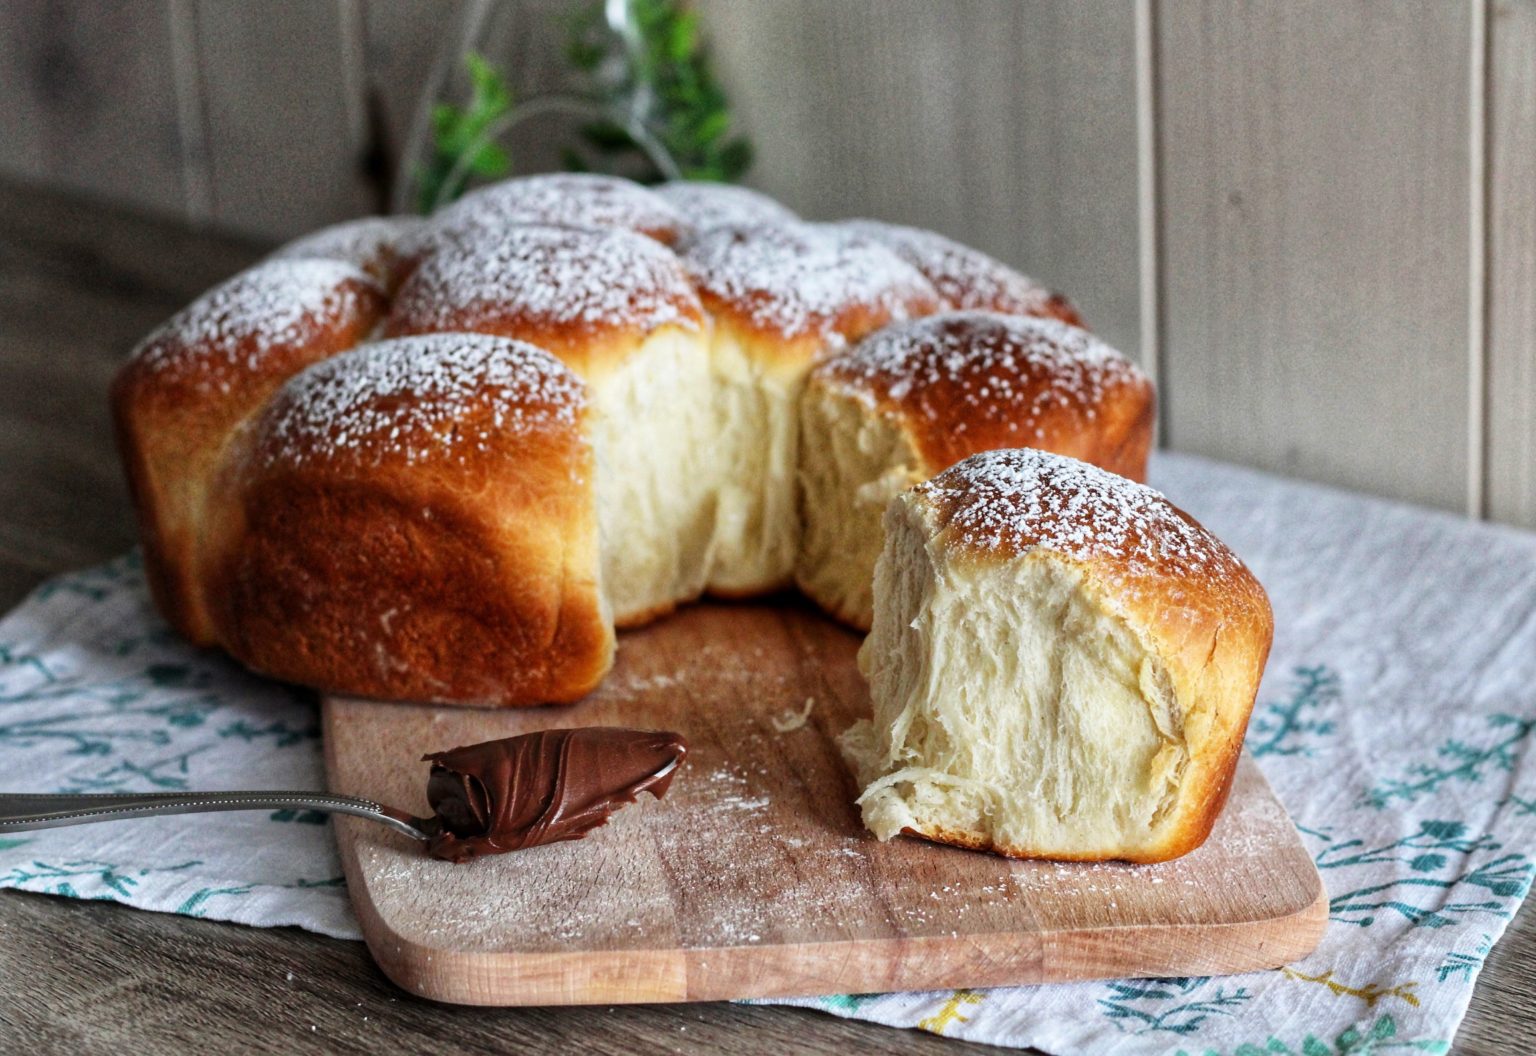
<path fill-rule="evenodd" d="M 703 0 L 757 146 L 811 218 L 932 227 L 1140 347 L 1135 18 L 1121 0 Z"/>

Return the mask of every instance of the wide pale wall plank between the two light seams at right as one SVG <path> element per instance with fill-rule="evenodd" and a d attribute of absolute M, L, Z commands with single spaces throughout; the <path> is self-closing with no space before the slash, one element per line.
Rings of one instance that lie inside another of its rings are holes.
<path fill-rule="evenodd" d="M 1462 510 L 1470 18 L 1163 5 L 1164 439 Z"/>

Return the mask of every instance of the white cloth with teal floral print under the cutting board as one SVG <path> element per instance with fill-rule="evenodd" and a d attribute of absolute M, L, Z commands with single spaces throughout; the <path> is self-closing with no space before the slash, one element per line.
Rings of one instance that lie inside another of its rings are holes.
<path fill-rule="evenodd" d="M 1187 456 L 1154 483 L 1270 591 L 1249 751 L 1327 886 L 1322 944 L 1243 976 L 783 1004 L 1051 1053 L 1447 1051 L 1536 872 L 1536 537 Z M 132 557 L 0 622 L 0 766 L 35 790 L 323 783 L 310 698 L 177 640 Z M 0 886 L 358 935 L 301 810 L 5 837 Z"/>

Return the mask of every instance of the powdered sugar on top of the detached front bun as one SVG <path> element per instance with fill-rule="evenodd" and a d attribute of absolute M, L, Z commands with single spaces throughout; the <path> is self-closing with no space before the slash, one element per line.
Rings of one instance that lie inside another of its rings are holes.
<path fill-rule="evenodd" d="M 972 454 L 914 493 L 940 513 L 951 543 L 966 549 L 1109 557 L 1164 577 L 1238 568 L 1221 540 L 1152 488 L 1060 454 Z"/>

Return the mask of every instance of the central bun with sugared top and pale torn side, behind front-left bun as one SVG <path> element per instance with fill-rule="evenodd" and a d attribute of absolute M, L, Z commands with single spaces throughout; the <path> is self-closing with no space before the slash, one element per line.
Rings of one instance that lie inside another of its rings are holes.
<path fill-rule="evenodd" d="M 547 348 L 591 387 L 604 583 L 621 626 L 691 600 L 714 530 L 703 309 L 677 258 L 617 229 L 482 230 L 433 246 L 387 333 L 475 332 Z"/>

